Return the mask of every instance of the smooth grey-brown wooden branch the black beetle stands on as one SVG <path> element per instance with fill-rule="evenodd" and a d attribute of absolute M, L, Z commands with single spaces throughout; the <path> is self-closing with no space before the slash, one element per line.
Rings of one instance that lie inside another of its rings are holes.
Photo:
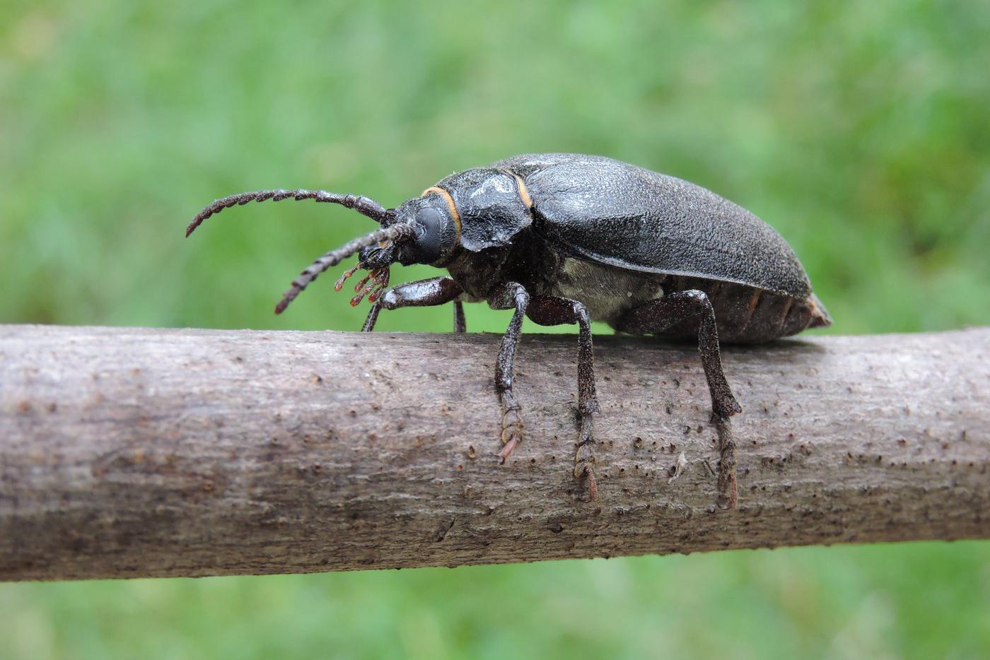
<path fill-rule="evenodd" d="M 498 343 L 0 327 L 0 580 L 990 537 L 990 329 L 727 347 L 732 511 L 693 346 L 596 338 L 585 503 L 576 337 L 524 337 L 504 465 Z"/>

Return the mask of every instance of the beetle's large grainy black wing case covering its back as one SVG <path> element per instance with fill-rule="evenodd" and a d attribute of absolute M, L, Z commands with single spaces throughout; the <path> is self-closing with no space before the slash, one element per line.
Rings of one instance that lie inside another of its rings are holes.
<path fill-rule="evenodd" d="M 688 181 L 612 158 L 535 153 L 499 161 L 526 182 L 535 229 L 599 263 L 745 284 L 804 299 L 790 245 L 737 204 Z"/>

